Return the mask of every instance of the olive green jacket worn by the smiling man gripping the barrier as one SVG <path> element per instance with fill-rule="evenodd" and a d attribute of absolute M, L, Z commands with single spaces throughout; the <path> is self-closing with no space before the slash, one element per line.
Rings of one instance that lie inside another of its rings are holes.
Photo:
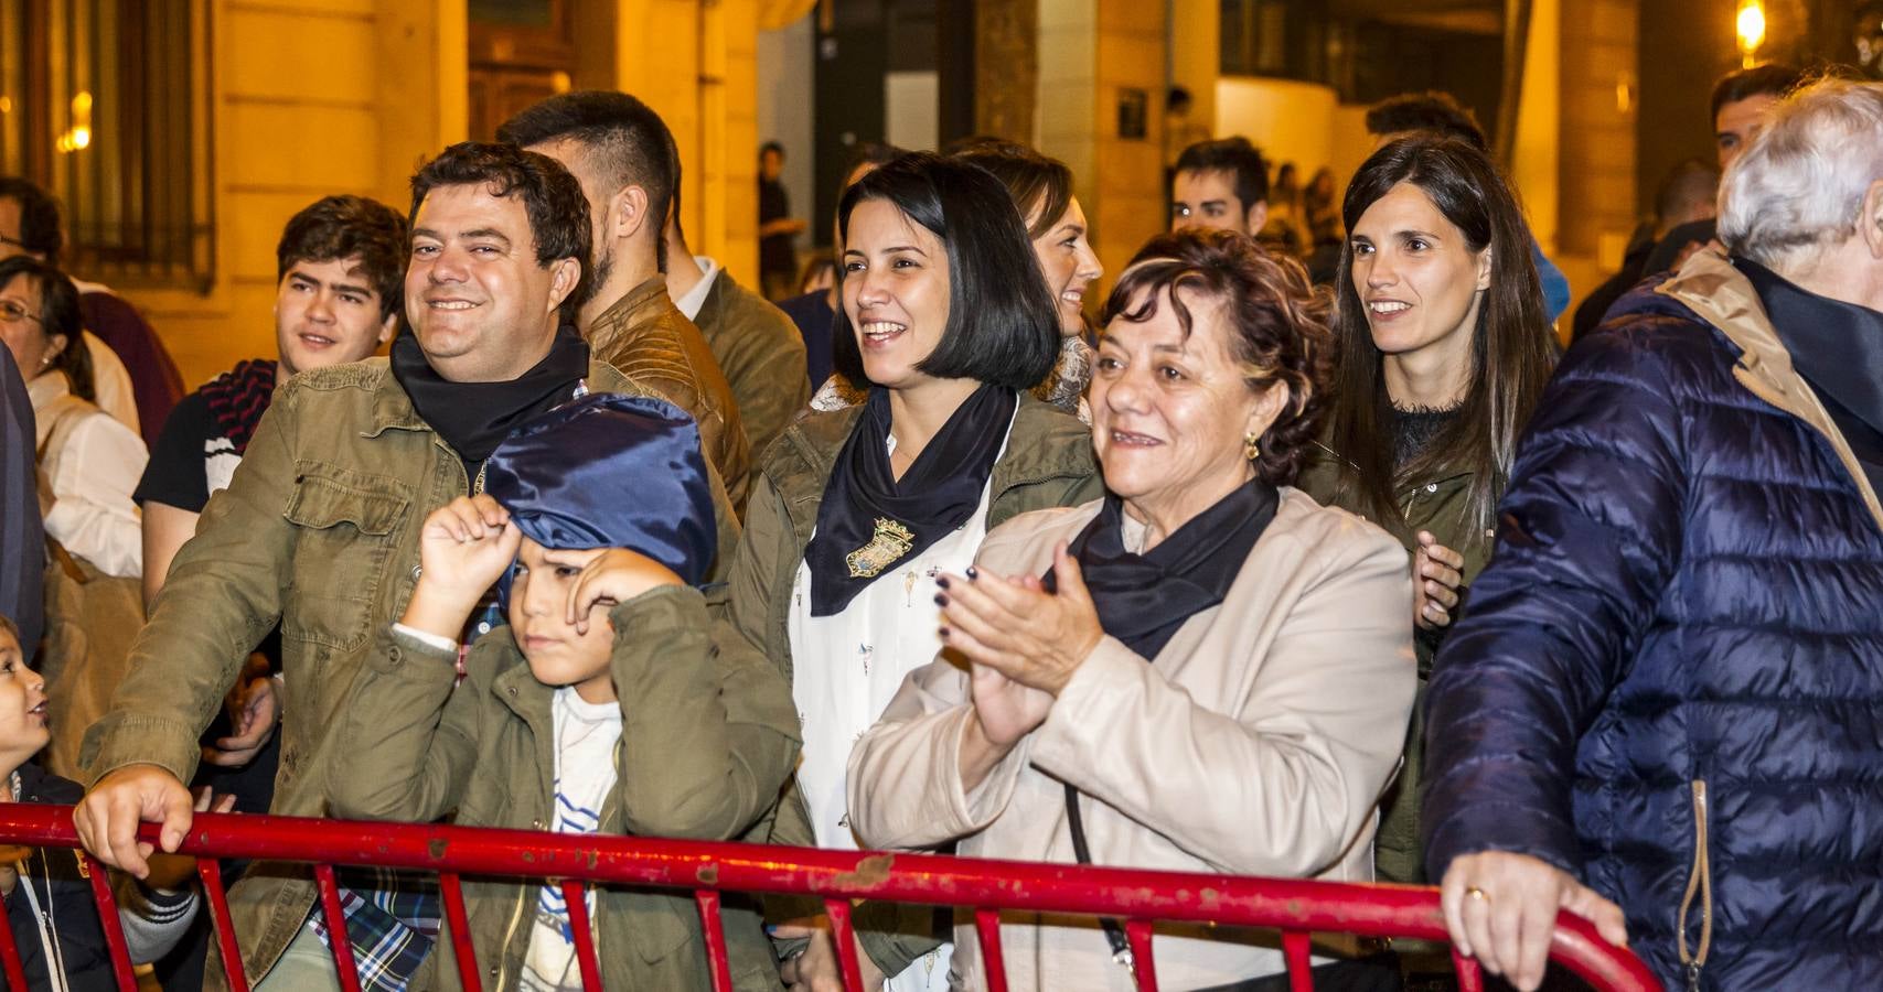
<path fill-rule="evenodd" d="M 589 363 L 587 386 L 659 395 L 601 361 Z M 717 582 L 738 521 L 710 463 L 708 472 Z M 128 764 L 190 781 L 198 738 L 249 651 L 279 623 L 284 702 L 269 811 L 328 815 L 328 776 L 346 774 L 354 759 L 333 732 L 341 706 L 377 634 L 405 612 L 426 516 L 473 482 L 384 358 L 282 384 L 230 488 L 209 497 L 196 536 L 177 552 L 111 713 L 85 734 L 90 781 Z M 250 868 L 230 890 L 249 981 L 275 966 L 313 905 L 305 866 Z M 220 986 L 222 969 L 207 973 Z"/>

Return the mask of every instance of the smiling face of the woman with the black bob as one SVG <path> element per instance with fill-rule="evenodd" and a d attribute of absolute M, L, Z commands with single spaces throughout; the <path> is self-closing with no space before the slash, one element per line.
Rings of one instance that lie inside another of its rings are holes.
<path fill-rule="evenodd" d="M 870 382 L 928 380 L 917 365 L 942 344 L 947 297 L 947 245 L 887 200 L 857 203 L 844 239 L 844 314 Z"/>

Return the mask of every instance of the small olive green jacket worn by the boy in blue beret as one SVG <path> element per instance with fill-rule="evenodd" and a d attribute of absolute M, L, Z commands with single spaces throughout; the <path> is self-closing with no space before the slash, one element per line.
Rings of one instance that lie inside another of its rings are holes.
<path fill-rule="evenodd" d="M 798 759 L 798 715 L 778 668 L 717 655 L 706 599 L 650 589 L 610 612 L 621 740 L 601 808 L 608 836 L 764 840 L 763 813 Z M 330 796 L 348 819 L 544 830 L 555 823 L 555 689 L 537 681 L 508 625 L 458 653 L 390 627 L 354 681 Z M 744 836 L 749 830 L 759 836 Z M 540 881 L 465 881 L 471 947 L 486 988 L 516 988 L 535 930 Z M 595 888 L 595 949 L 608 988 L 712 988 L 699 909 L 685 888 Z M 727 900 L 721 917 L 736 988 L 778 988 L 759 915 Z M 444 924 L 446 930 L 450 924 Z M 459 988 L 441 934 L 427 988 Z"/>

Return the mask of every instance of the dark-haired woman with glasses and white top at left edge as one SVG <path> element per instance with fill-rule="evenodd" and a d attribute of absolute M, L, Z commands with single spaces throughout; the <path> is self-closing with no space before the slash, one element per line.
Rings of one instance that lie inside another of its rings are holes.
<path fill-rule="evenodd" d="M 143 531 L 130 495 L 147 454 L 94 403 L 72 279 L 36 258 L 0 260 L 0 339 L 32 399 L 45 536 L 107 576 L 141 576 Z"/>

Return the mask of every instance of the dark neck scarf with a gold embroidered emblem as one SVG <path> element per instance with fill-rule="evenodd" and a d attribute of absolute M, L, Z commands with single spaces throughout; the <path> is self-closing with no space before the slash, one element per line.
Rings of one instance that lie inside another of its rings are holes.
<path fill-rule="evenodd" d="M 898 480 L 889 469 L 889 390 L 870 390 L 817 506 L 804 548 L 812 616 L 840 614 L 891 565 L 942 540 L 981 506 L 1019 393 L 974 392 Z"/>

